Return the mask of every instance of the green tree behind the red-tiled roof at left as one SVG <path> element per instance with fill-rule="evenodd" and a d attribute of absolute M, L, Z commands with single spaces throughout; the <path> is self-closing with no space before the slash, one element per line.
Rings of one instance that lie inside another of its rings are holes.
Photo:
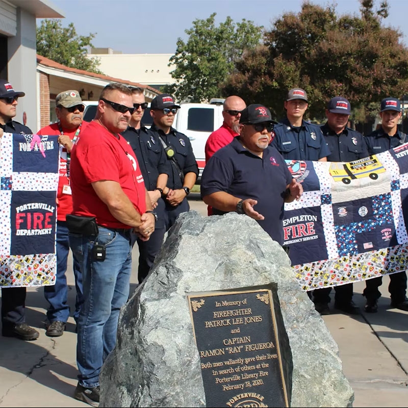
<path fill-rule="evenodd" d="M 87 57 L 95 35 L 79 36 L 72 22 L 63 28 L 60 19 L 44 19 L 37 27 L 37 53 L 71 68 L 102 73 L 99 60 Z"/>

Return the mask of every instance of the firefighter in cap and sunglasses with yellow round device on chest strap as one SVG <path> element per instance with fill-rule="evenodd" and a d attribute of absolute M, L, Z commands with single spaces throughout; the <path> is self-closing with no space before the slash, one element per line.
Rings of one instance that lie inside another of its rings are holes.
<path fill-rule="evenodd" d="M 180 106 L 166 93 L 156 96 L 150 103 L 153 124 L 149 133 L 159 137 L 171 165 L 168 189 L 163 191 L 166 231 L 174 224 L 179 214 L 190 210 L 187 196 L 198 176 L 198 166 L 190 139 L 172 127 L 178 109 Z"/>

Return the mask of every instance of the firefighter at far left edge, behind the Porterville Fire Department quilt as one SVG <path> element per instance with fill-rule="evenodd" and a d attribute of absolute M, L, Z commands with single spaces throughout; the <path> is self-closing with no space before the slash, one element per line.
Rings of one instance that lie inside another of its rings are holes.
<path fill-rule="evenodd" d="M 24 92 L 16 92 L 8 81 L 0 80 L 0 128 L 5 133 L 32 135 L 30 127 L 12 120 L 16 116 L 18 98 Z M 36 340 L 37 330 L 25 323 L 25 287 L 2 288 L 2 335 L 21 340 Z"/>

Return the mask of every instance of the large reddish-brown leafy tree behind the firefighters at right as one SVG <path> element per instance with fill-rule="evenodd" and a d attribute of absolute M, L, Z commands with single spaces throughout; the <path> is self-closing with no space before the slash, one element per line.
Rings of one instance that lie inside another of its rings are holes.
<path fill-rule="evenodd" d="M 236 63 L 237 72 L 223 87 L 246 103 L 270 106 L 280 118 L 288 89 L 308 93 L 311 118 L 324 117 L 333 96 L 350 100 L 354 117 L 365 121 L 386 96 L 402 97 L 408 90 L 408 50 L 402 34 L 382 26 L 388 4 L 373 10 L 361 0 L 361 17 L 337 16 L 335 6 L 305 2 L 300 13 L 286 13 L 265 33 L 264 45 Z M 262 64 L 262 66 L 260 66 Z"/>

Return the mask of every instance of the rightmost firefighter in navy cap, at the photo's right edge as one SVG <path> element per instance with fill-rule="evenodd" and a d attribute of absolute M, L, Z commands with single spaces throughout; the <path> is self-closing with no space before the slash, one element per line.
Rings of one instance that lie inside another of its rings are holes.
<path fill-rule="evenodd" d="M 370 155 L 390 150 L 406 142 L 406 135 L 398 131 L 398 121 L 401 118 L 401 105 L 397 98 L 381 100 L 381 127 L 364 138 Z M 396 309 L 408 311 L 406 298 L 406 272 L 392 273 L 388 291 L 391 294 L 391 306 Z M 367 279 L 363 295 L 367 299 L 365 311 L 375 313 L 377 300 L 381 296 L 378 288 L 382 284 L 382 276 Z"/>

